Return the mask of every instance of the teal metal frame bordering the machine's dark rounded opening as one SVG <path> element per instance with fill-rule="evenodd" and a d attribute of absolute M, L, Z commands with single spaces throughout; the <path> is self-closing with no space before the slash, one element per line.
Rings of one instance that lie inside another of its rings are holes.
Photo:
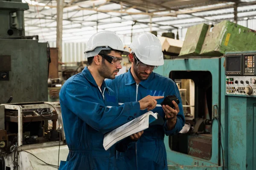
<path fill-rule="evenodd" d="M 221 124 L 224 124 L 224 120 L 221 119 L 221 70 L 224 63 L 223 57 L 173 57 L 174 60 L 165 60 L 165 64 L 156 69 L 160 75 L 169 77 L 171 71 L 209 71 L 212 74 L 212 118 L 218 118 Z M 210 63 L 210 64 L 209 64 Z M 187 154 L 173 151 L 169 147 L 169 137 L 165 137 L 164 141 L 166 144 L 167 161 L 169 169 L 197 169 L 197 170 L 221 170 L 222 169 L 222 155 L 221 147 L 219 142 L 219 124 L 217 119 L 212 121 L 212 157 L 210 160 L 197 158 Z M 222 134 L 221 134 L 222 135 Z M 224 149 L 224 148 L 223 148 Z M 196 166 L 196 167 L 195 167 Z"/>

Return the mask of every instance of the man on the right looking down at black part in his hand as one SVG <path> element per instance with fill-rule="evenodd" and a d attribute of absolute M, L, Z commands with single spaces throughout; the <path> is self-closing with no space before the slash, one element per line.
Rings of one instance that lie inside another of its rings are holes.
<path fill-rule="evenodd" d="M 129 60 L 132 65 L 128 72 L 107 80 L 106 84 L 113 89 L 119 103 L 139 101 L 147 95 L 167 96 L 176 95 L 180 104 L 172 103 L 175 109 L 168 105 L 156 107 L 164 119 L 163 125 L 153 125 L 144 130 L 136 144 L 128 145 L 124 153 L 129 170 L 167 170 L 164 135 L 177 134 L 185 123 L 180 93 L 174 81 L 153 72 L 157 66 L 164 64 L 160 40 L 153 34 L 145 32 L 134 39 L 130 45 Z M 160 104 L 163 99 L 158 100 Z M 141 110 L 141 114 L 146 111 Z M 141 115 L 140 114 L 140 115 Z"/>

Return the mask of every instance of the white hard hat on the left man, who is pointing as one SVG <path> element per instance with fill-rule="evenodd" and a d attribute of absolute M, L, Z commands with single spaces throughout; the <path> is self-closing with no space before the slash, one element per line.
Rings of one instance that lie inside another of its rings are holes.
<path fill-rule="evenodd" d="M 123 52 L 122 55 L 129 55 L 128 51 L 124 50 L 121 39 L 112 31 L 97 32 L 88 40 L 85 49 L 85 58 L 98 55 L 101 50 L 118 50 Z"/>

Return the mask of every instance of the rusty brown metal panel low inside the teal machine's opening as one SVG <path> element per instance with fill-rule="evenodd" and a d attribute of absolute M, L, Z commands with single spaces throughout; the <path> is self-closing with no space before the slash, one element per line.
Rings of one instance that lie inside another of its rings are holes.
<path fill-rule="evenodd" d="M 188 154 L 198 158 L 209 160 L 212 156 L 212 136 L 211 135 L 192 135 L 189 138 Z"/>

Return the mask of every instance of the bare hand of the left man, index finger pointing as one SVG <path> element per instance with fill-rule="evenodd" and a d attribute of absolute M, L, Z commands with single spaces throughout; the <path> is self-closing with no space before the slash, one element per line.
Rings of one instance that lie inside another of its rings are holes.
<path fill-rule="evenodd" d="M 157 106 L 156 100 L 160 98 L 163 98 L 163 96 L 151 96 L 151 95 L 146 96 L 145 98 L 139 101 L 140 109 L 141 110 L 148 109 L 148 111 L 154 109 Z"/>

